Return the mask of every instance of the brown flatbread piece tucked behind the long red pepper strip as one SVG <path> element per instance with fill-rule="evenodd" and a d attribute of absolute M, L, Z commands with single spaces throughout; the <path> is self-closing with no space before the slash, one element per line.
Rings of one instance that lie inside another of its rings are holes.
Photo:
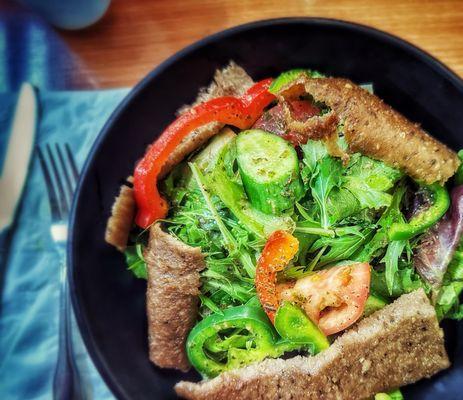
<path fill-rule="evenodd" d="M 217 70 L 213 82 L 207 89 L 200 91 L 196 101 L 191 106 L 182 107 L 180 114 L 188 111 L 191 107 L 222 96 L 240 96 L 253 84 L 253 80 L 246 71 L 235 64 L 230 64 L 222 70 Z M 162 168 L 161 178 L 166 176 L 172 168 L 182 161 L 187 155 L 201 147 L 212 136 L 222 129 L 223 124 L 213 122 L 202 126 L 191 132 L 171 153 L 166 164 Z"/>

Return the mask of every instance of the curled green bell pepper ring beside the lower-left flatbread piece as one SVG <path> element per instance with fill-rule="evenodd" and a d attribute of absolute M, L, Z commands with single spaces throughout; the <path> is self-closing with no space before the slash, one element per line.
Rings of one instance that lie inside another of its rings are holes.
<path fill-rule="evenodd" d="M 204 377 L 212 378 L 224 371 L 304 348 L 277 338 L 261 307 L 243 305 L 200 321 L 188 335 L 186 350 L 191 365 Z"/>

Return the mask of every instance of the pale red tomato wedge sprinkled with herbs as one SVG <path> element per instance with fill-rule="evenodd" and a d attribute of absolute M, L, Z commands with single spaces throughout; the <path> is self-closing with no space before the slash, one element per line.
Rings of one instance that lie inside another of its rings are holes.
<path fill-rule="evenodd" d="M 282 300 L 299 303 L 325 335 L 338 333 L 362 315 L 370 290 L 370 265 L 341 265 L 299 279 Z"/>

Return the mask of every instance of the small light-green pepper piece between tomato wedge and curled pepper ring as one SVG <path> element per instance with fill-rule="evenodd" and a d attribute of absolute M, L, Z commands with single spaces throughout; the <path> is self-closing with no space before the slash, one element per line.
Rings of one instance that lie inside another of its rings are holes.
<path fill-rule="evenodd" d="M 304 311 L 295 304 L 283 302 L 275 315 L 275 329 L 292 343 L 312 344 L 314 354 L 328 348 L 330 342 Z"/>

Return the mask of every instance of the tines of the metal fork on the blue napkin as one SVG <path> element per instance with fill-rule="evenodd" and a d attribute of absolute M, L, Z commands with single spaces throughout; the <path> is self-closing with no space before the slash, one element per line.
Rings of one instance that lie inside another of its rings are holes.
<path fill-rule="evenodd" d="M 37 148 L 45 178 L 53 220 L 65 220 L 69 215 L 74 189 L 79 179 L 77 165 L 69 144 L 46 144 Z"/>

